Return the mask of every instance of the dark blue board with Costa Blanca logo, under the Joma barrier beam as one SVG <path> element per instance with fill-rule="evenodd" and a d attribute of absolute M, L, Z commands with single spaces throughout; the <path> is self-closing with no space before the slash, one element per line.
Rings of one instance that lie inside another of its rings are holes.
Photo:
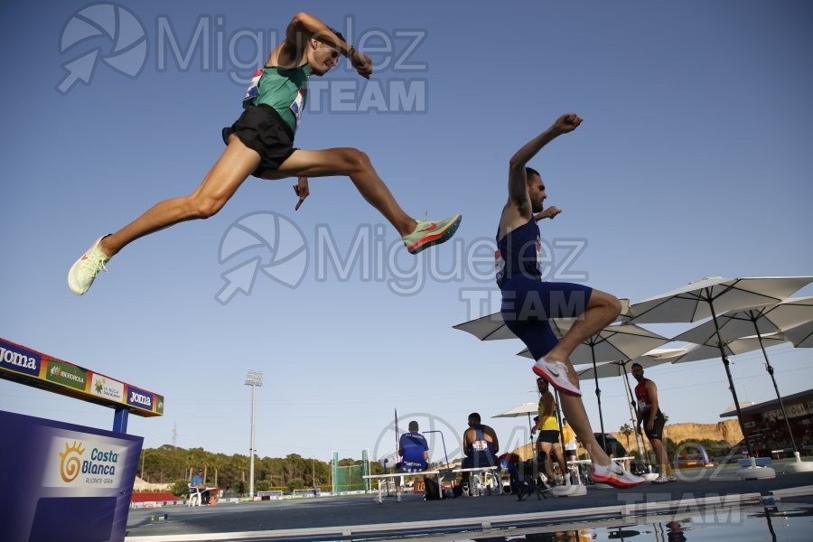
<path fill-rule="evenodd" d="M 144 438 L 0 410 L 4 542 L 119 542 Z"/>

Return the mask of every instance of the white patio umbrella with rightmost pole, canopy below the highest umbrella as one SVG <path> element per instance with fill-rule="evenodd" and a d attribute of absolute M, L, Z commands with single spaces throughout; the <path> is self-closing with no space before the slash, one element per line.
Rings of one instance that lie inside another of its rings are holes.
<path fill-rule="evenodd" d="M 768 359 L 762 337 L 811 320 L 813 320 L 813 297 L 790 298 L 778 304 L 719 314 L 716 318 L 719 329 L 715 329 L 715 322 L 710 320 L 677 335 L 674 339 L 674 341 L 688 341 L 714 346 L 718 338 L 722 341 L 731 341 L 755 335 L 757 340 L 761 342 L 760 347 L 762 349 L 762 358 L 765 360 L 765 370 L 771 376 L 776 399 L 779 401 L 785 426 L 790 436 L 790 444 L 793 446 L 793 453 L 797 457 L 797 461 L 801 461 L 799 447 L 796 445 L 796 439 L 793 438 L 790 421 L 785 412 L 779 386 L 773 376 L 773 366 L 771 366 L 771 360 Z"/>

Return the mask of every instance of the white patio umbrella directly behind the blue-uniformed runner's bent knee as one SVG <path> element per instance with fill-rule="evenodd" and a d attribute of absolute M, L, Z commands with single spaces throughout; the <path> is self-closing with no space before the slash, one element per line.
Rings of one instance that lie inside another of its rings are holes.
<path fill-rule="evenodd" d="M 608 325 L 579 344 L 570 355 L 570 362 L 574 365 L 591 363 L 595 371 L 598 369 L 599 362 L 632 360 L 666 342 L 668 342 L 666 337 L 650 332 L 634 323 Z M 519 355 L 526 358 L 532 357 L 528 349 L 520 351 Z M 598 376 L 593 374 L 593 379 L 595 380 L 595 397 L 598 401 L 599 425 L 602 429 L 602 444 L 606 447 L 602 390 L 599 388 Z"/>

